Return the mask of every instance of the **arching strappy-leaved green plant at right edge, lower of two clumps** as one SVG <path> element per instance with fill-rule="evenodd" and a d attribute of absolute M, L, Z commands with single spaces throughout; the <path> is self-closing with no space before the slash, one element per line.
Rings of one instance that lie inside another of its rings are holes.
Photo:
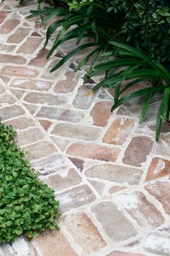
<path fill-rule="evenodd" d="M 93 91 L 102 86 L 107 86 L 115 90 L 115 103 L 112 106 L 112 111 L 121 104 L 144 95 L 146 99 L 143 103 L 140 123 L 145 119 L 148 106 L 153 100 L 153 96 L 158 92 L 163 93 L 156 119 L 156 141 L 158 141 L 162 121 L 169 121 L 170 72 L 162 64 L 153 61 L 151 58 L 138 51 L 138 49 L 114 41 L 110 41 L 109 43 L 116 47 L 117 59 L 95 65 L 93 69 L 86 74 L 86 77 L 94 77 L 101 72 L 105 72 L 104 80 L 94 86 Z M 113 50 L 113 52 L 115 52 L 115 50 Z M 108 52 L 104 55 L 108 56 L 111 54 L 112 52 Z M 124 68 L 122 69 L 122 67 Z M 156 81 L 157 84 L 156 86 L 135 90 L 135 85 L 143 81 Z M 126 82 L 126 84 L 122 85 L 122 82 Z M 122 96 L 122 93 L 125 94 L 128 88 L 133 88 L 134 92 Z"/>

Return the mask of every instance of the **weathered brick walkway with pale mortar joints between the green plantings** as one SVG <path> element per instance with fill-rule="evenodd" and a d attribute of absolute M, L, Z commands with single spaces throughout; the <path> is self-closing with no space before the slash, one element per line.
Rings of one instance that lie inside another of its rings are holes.
<path fill-rule="evenodd" d="M 112 95 L 85 96 L 92 84 L 71 61 L 49 73 L 72 46 L 45 59 L 45 30 L 26 19 L 35 5 L 6 0 L 0 9 L 1 120 L 17 129 L 63 213 L 60 231 L 1 245 L 0 255 L 170 255 L 169 124 L 154 139 L 160 98 L 140 126 L 140 100 L 111 114 Z"/>

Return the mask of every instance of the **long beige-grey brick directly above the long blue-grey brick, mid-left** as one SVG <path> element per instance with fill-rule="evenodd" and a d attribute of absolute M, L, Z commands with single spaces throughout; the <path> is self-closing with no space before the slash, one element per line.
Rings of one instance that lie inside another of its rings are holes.
<path fill-rule="evenodd" d="M 24 101 L 35 104 L 63 105 L 67 102 L 65 95 L 51 95 L 50 93 L 28 93 Z"/>

